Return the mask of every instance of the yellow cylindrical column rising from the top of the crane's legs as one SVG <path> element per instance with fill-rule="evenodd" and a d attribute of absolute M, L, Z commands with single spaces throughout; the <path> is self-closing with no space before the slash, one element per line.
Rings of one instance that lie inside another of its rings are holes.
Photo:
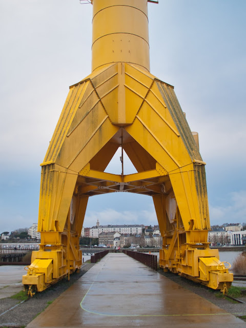
<path fill-rule="evenodd" d="M 92 71 L 117 61 L 149 71 L 148 23 L 145 0 L 93 1 Z"/>

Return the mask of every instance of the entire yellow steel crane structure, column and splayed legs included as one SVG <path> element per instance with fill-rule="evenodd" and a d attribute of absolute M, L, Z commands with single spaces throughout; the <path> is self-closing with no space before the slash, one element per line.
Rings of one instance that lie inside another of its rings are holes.
<path fill-rule="evenodd" d="M 214 289 L 233 280 L 209 249 L 206 163 L 174 88 L 149 73 L 147 45 L 147 0 L 93 1 L 93 72 L 70 87 L 41 165 L 41 243 L 27 289 L 42 291 L 80 268 L 88 198 L 111 192 L 153 197 L 161 268 Z M 119 147 L 138 173 L 104 172 Z"/>

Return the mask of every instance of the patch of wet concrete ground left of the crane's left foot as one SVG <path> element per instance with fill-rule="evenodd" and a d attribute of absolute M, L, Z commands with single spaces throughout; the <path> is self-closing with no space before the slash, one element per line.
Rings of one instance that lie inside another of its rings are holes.
<path fill-rule="evenodd" d="M 22 276 L 26 274 L 25 266 L 1 265 L 0 266 L 0 299 L 10 297 L 24 290 Z"/>

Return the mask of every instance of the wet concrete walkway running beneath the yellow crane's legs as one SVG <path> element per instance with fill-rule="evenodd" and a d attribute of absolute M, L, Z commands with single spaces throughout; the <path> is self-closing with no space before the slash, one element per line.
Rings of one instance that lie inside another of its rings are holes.
<path fill-rule="evenodd" d="M 122 253 L 111 253 L 27 325 L 246 327 L 245 322 Z"/>

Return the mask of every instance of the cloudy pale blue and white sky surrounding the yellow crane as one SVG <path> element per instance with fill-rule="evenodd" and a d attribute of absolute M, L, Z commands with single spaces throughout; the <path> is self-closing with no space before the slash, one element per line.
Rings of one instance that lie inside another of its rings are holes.
<path fill-rule="evenodd" d="M 245 0 L 149 4 L 151 73 L 199 133 L 211 224 L 246 221 L 245 12 Z M 91 72 L 91 17 L 78 0 L 0 0 L 0 233 L 37 222 L 39 164 L 69 86 Z M 91 197 L 85 226 L 97 218 L 157 223 L 152 198 L 127 193 Z"/>

